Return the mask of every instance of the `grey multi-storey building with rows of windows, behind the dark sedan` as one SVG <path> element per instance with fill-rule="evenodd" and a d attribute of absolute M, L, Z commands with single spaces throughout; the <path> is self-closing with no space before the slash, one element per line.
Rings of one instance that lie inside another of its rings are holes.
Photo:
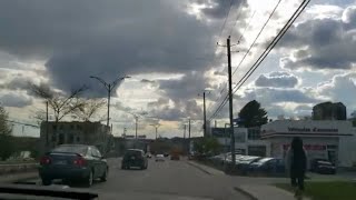
<path fill-rule="evenodd" d="M 55 122 L 41 123 L 40 143 L 43 151 L 63 143 L 96 146 L 103 153 L 109 149 L 112 134 L 110 127 L 100 122 Z"/>

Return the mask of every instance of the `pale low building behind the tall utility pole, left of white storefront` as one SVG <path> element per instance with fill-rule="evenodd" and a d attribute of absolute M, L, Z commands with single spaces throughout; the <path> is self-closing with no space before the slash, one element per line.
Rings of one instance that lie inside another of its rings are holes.
<path fill-rule="evenodd" d="M 269 141 L 260 140 L 259 128 L 234 128 L 235 152 L 240 154 L 268 157 L 270 152 Z M 230 134 L 227 128 L 211 128 L 211 136 L 216 137 L 224 151 L 230 151 Z"/>

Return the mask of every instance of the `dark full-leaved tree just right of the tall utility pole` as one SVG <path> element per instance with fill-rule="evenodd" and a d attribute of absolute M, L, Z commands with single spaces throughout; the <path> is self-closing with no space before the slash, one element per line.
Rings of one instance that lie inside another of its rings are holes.
<path fill-rule="evenodd" d="M 260 127 L 268 121 L 267 112 L 264 108 L 260 108 L 260 103 L 253 100 L 245 104 L 245 107 L 238 113 L 240 121 L 239 126 L 246 128 Z"/>

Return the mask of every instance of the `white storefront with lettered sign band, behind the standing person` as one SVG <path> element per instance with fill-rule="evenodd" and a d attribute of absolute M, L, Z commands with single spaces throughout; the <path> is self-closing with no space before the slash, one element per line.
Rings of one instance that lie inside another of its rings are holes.
<path fill-rule="evenodd" d="M 261 126 L 261 139 L 270 143 L 271 157 L 285 158 L 294 137 L 300 137 L 313 159 L 328 159 L 337 167 L 356 164 L 356 134 L 349 121 L 276 120 Z"/>

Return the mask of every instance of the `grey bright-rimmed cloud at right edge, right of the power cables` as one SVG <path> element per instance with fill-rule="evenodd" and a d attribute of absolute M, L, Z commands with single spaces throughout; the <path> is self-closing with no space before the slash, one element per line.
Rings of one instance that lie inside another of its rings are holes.
<path fill-rule="evenodd" d="M 280 60 L 283 68 L 350 69 L 356 62 L 356 7 L 344 10 L 343 17 L 309 19 L 294 26 L 279 48 L 295 49 L 294 59 Z"/>

